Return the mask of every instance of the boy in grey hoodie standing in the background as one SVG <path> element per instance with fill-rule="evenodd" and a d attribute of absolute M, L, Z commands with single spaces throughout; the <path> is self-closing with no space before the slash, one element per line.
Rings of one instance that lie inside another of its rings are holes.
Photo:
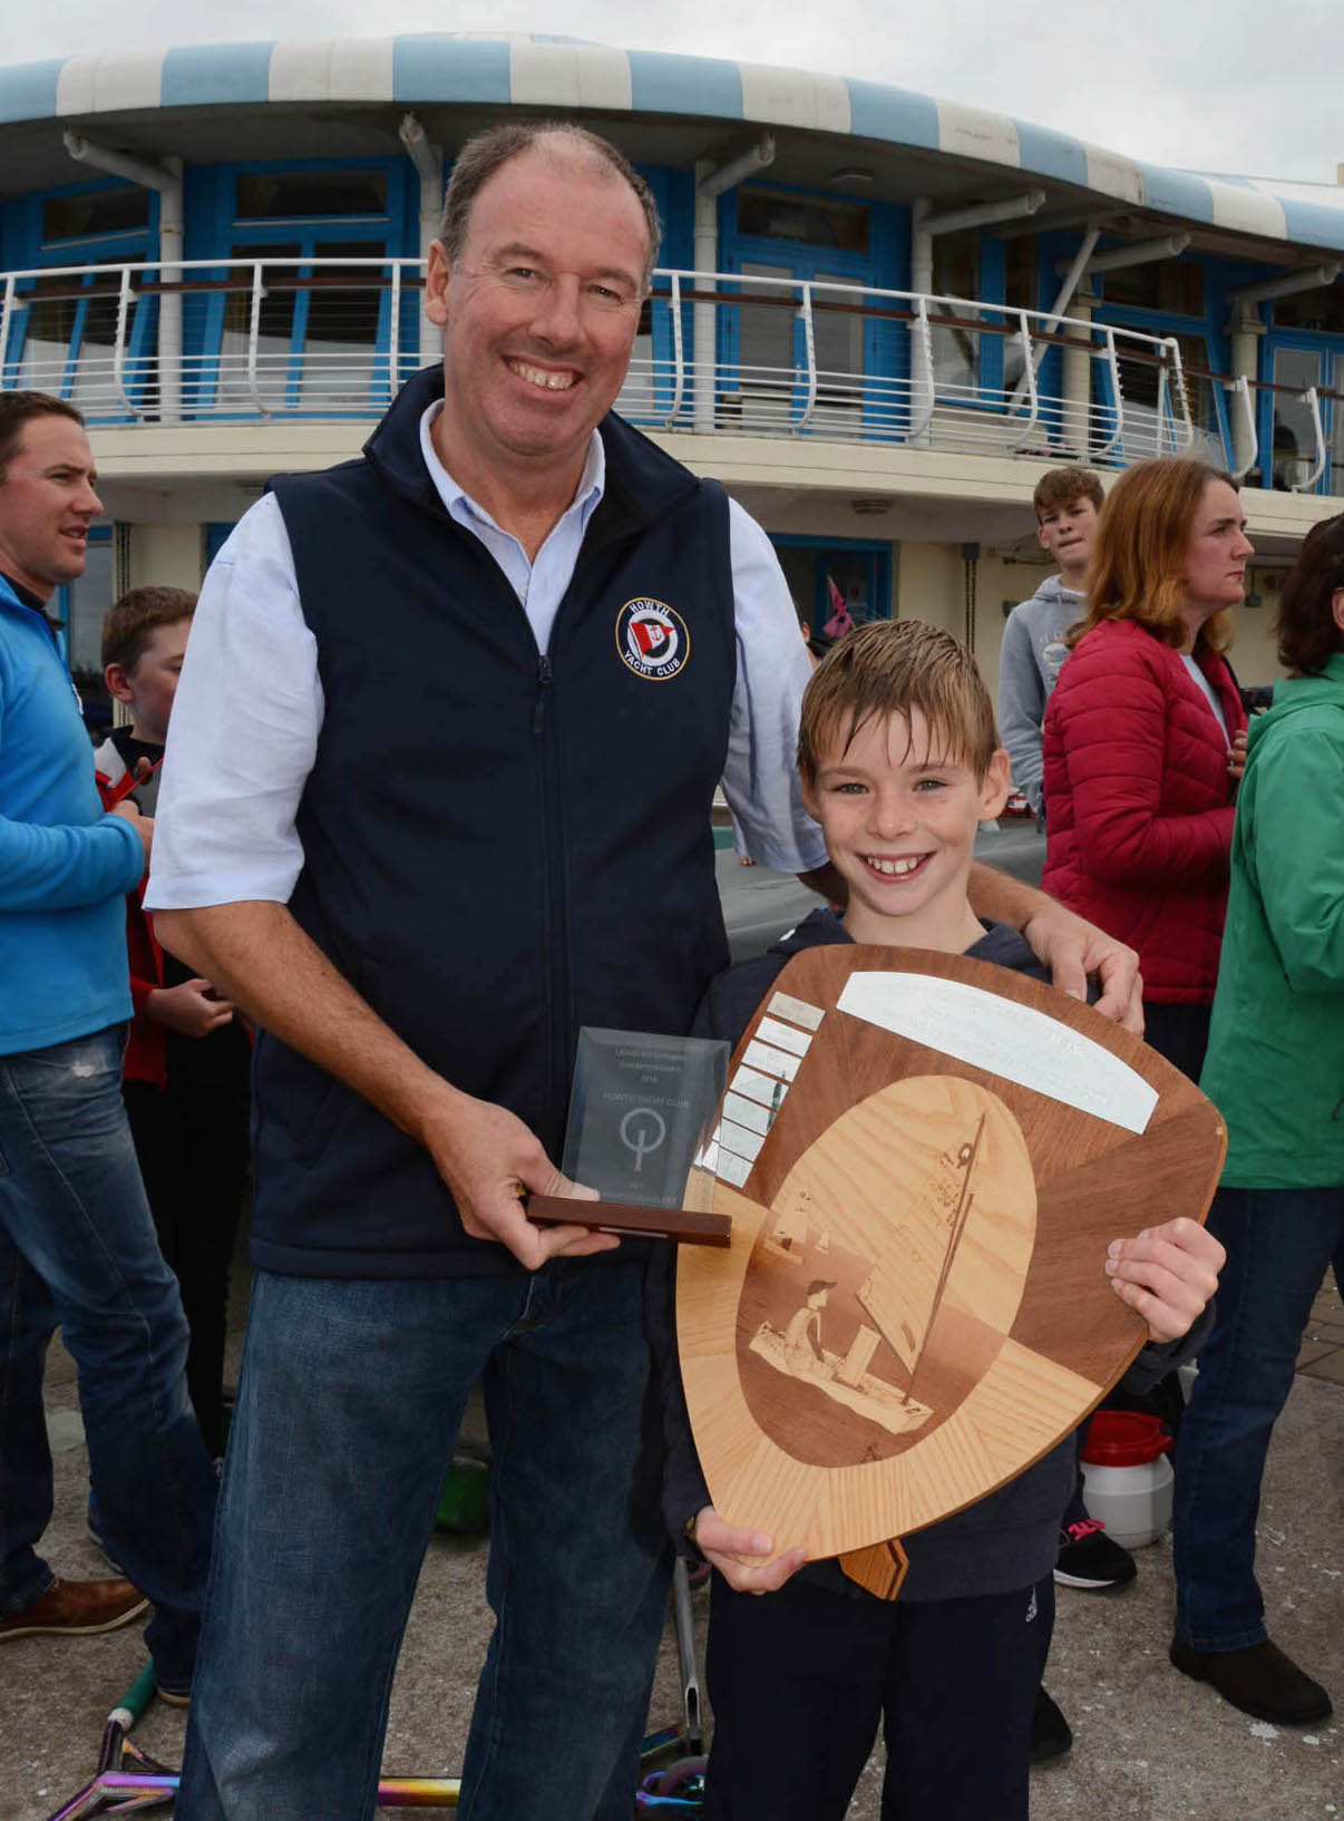
<path fill-rule="evenodd" d="M 1013 781 L 1040 816 L 1040 730 L 1045 703 L 1069 650 L 1064 634 L 1082 615 L 1087 565 L 1093 559 L 1102 483 L 1089 468 L 1051 468 L 1036 483 L 1036 539 L 1060 565 L 1060 574 L 1020 601 L 1003 626 L 998 654 L 998 725 L 1003 730 Z"/>

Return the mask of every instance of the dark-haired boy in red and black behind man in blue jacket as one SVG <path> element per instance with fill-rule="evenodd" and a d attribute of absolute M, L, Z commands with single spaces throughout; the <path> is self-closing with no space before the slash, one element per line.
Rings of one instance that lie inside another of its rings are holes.
<path fill-rule="evenodd" d="M 182 588 L 131 588 L 102 621 L 104 683 L 131 721 L 113 728 L 95 765 L 109 794 L 153 767 L 133 787 L 146 816 L 195 606 Z M 135 1018 L 122 1096 L 158 1244 L 182 1287 L 191 1404 L 219 1455 L 228 1271 L 248 1171 L 249 1045 L 211 983 L 162 952 L 138 894 L 127 900 L 126 940 Z"/>

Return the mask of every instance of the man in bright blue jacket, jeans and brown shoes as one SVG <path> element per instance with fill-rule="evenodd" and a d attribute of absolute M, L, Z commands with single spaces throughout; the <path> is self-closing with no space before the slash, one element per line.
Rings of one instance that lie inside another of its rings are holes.
<path fill-rule="evenodd" d="M 111 1632 L 155 1602 L 160 1688 L 186 1697 L 213 1475 L 186 1393 L 186 1324 L 120 1096 L 126 892 L 151 823 L 104 814 L 46 606 L 84 574 L 102 506 L 71 406 L 0 393 L 0 1643 Z M 42 1368 L 78 1366 L 98 1524 L 126 1581 L 64 1581 Z"/>

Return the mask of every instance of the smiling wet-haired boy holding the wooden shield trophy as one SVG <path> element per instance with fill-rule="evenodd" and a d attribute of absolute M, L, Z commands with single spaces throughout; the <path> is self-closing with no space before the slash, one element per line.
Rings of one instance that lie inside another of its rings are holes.
<path fill-rule="evenodd" d="M 852 632 L 807 688 L 798 752 L 847 907 L 814 910 L 769 954 L 719 976 L 697 1034 L 736 1042 L 789 956 L 823 943 L 969 954 L 1042 978 L 1016 931 L 982 923 L 967 900 L 976 827 L 1002 809 L 1009 778 L 963 646 L 918 621 Z M 1115 1242 L 1096 1260 L 1149 1324 L 1136 1384 L 1191 1349 L 1220 1262 L 1218 1242 L 1191 1220 Z M 774 1541 L 728 1528 L 708 1501 L 677 1373 L 670 1277 L 661 1256 L 650 1328 L 667 1409 L 665 1515 L 674 1537 L 718 1568 L 707 1821 L 838 1821 L 878 1723 L 883 1821 L 1023 1821 L 1073 1439 L 905 1539 L 911 1566 L 896 1601 L 867 1593 L 834 1561 L 803 1566 L 801 1550 L 767 1562 Z M 1180 1337 L 1186 1348 L 1173 1349 Z"/>

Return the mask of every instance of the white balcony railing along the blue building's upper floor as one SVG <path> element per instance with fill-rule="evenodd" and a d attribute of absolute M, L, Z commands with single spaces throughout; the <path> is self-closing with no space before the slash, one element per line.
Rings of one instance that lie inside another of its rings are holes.
<path fill-rule="evenodd" d="M 89 422 L 372 417 L 432 359 L 423 264 L 311 259 L 4 275 L 0 384 Z M 423 351 L 424 346 L 424 351 Z M 1078 459 L 1257 461 L 1246 381 L 1173 337 L 836 282 L 654 273 L 617 408 L 654 430 Z M 1326 464 L 1317 452 L 1300 486 Z"/>

